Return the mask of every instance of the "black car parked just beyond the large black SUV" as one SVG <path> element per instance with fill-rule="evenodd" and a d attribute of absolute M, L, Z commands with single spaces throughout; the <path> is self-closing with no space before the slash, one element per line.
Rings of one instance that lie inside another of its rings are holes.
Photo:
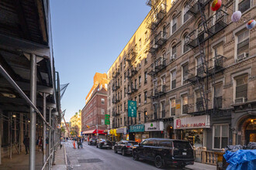
<path fill-rule="evenodd" d="M 123 156 L 129 154 L 132 154 L 133 151 L 133 145 L 138 145 L 137 141 L 119 141 L 114 146 L 115 153 L 122 153 Z"/>

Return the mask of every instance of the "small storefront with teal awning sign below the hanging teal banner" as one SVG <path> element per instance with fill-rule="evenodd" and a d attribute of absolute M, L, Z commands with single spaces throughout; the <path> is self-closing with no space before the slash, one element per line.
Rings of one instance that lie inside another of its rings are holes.
<path fill-rule="evenodd" d="M 138 143 L 149 138 L 149 132 L 145 132 L 144 124 L 131 125 L 129 132 L 133 136 L 134 141 L 137 141 Z"/>

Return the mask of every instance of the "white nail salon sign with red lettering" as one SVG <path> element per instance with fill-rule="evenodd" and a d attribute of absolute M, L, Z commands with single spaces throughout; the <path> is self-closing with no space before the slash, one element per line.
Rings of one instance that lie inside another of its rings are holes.
<path fill-rule="evenodd" d="M 210 128 L 209 115 L 175 119 L 175 129 Z"/>

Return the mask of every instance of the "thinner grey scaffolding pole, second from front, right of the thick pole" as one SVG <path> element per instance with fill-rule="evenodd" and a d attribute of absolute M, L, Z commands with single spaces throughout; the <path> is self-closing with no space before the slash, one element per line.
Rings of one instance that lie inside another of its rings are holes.
<path fill-rule="evenodd" d="M 47 119 L 47 97 L 43 93 L 43 117 Z M 47 161 L 47 124 L 43 121 L 43 165 Z"/>

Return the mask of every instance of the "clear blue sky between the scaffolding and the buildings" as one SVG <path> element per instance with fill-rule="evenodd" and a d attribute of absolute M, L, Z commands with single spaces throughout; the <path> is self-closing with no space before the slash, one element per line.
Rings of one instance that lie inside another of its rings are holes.
<path fill-rule="evenodd" d="M 61 100 L 69 121 L 85 107 L 95 72 L 106 73 L 140 26 L 146 0 L 51 0 L 54 58 L 61 83 L 70 83 Z"/>

